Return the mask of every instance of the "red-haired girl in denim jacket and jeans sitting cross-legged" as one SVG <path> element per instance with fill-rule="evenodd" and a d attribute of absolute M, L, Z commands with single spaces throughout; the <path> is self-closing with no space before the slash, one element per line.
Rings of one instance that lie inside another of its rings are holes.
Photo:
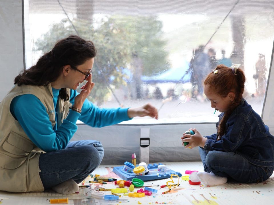
<path fill-rule="evenodd" d="M 243 99 L 245 75 L 232 65 L 217 65 L 204 81 L 204 93 L 211 107 L 219 110 L 217 133 L 202 136 L 184 134 L 185 148 L 199 147 L 205 172 L 198 178 L 204 185 L 227 182 L 259 183 L 274 170 L 274 137 L 261 117 Z"/>

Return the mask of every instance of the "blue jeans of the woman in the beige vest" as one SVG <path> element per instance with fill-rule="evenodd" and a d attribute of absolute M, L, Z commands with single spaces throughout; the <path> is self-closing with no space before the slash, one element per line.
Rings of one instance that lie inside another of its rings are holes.
<path fill-rule="evenodd" d="M 41 154 L 39 174 L 44 188 L 68 179 L 80 183 L 100 165 L 103 156 L 102 144 L 94 140 L 69 142 L 65 149 Z"/>

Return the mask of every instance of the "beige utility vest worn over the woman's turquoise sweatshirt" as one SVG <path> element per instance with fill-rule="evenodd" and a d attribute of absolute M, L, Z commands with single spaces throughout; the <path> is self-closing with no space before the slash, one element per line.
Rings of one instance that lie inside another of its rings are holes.
<path fill-rule="evenodd" d="M 69 89 L 67 93 L 70 95 Z M 44 190 L 38 163 L 43 151 L 33 144 L 10 112 L 13 98 L 24 94 L 35 95 L 44 104 L 52 126 L 56 124 L 51 84 L 47 86 L 15 85 L 5 96 L 0 103 L 0 190 L 3 191 L 39 192 Z M 59 127 L 66 118 L 71 103 L 59 98 L 57 106 Z"/>

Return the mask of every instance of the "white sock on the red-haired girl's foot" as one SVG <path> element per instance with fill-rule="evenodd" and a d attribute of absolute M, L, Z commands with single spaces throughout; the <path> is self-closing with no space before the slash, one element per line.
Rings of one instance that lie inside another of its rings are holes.
<path fill-rule="evenodd" d="M 206 186 L 221 185 L 227 182 L 227 177 L 219 177 L 213 173 L 198 172 L 197 177 Z"/>

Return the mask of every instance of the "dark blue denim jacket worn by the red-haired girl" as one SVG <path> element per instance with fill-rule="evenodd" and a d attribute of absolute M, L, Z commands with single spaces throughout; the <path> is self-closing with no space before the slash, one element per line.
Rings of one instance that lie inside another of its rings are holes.
<path fill-rule="evenodd" d="M 219 122 L 223 114 L 218 116 Z M 211 150 L 235 152 L 254 165 L 274 166 L 274 137 L 245 99 L 233 110 L 225 126 L 225 134 L 219 141 L 217 134 L 205 136 L 208 139 L 204 147 L 206 153 Z"/>

